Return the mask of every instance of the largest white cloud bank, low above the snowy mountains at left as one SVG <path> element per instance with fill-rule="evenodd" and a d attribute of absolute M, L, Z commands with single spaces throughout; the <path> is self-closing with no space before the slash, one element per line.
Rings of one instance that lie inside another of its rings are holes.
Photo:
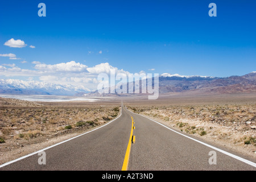
<path fill-rule="evenodd" d="M 33 61 L 33 63 L 35 64 L 35 69 L 21 69 L 16 67 L 15 64 L 0 65 L 0 76 L 24 76 L 27 77 L 25 78 L 27 80 L 32 80 L 33 78 L 33 80 L 39 79 L 40 82 L 61 85 L 70 84 L 74 86 L 84 86 L 86 88 L 96 90 L 99 83 L 97 77 L 100 73 L 110 75 L 110 70 L 114 70 L 115 75 L 129 75 L 129 72 L 113 67 L 112 65 L 109 65 L 109 63 L 101 63 L 90 68 L 84 64 L 76 63 L 75 61 L 59 64 L 41 64 L 37 61 Z"/>

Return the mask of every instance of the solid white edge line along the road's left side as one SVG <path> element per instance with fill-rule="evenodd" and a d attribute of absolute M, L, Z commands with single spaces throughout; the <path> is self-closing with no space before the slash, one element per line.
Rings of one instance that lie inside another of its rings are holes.
<path fill-rule="evenodd" d="M 121 115 L 122 115 L 122 105 L 121 105 L 121 113 L 120 113 L 120 115 L 119 115 L 117 118 L 115 118 L 115 119 L 118 119 L 119 117 L 121 117 Z M 104 127 L 104 126 L 106 126 L 106 125 L 109 125 L 110 123 L 112 123 L 113 121 L 115 121 L 115 119 L 113 119 L 112 121 L 106 123 L 105 125 L 103 125 L 103 126 L 101 126 L 101 127 Z M 4 167 L 4 166 L 7 166 L 7 165 L 9 165 L 9 164 L 11 164 L 11 163 L 15 163 L 15 162 L 17 162 L 17 161 L 19 161 L 19 160 L 22 160 L 22 159 L 24 159 L 24 158 L 27 158 L 27 157 L 29 157 L 29 156 L 31 156 L 31 155 L 38 154 L 39 152 L 42 152 L 42 151 L 47 150 L 47 149 L 49 149 L 49 148 L 58 146 L 59 144 L 68 142 L 69 140 L 72 140 L 72 139 L 81 137 L 82 135 L 85 135 L 85 134 L 88 134 L 88 133 L 90 133 L 90 132 L 92 132 L 92 131 L 95 131 L 95 130 L 100 129 L 101 127 L 98 127 L 97 129 L 94 129 L 94 130 L 88 131 L 88 132 L 86 132 L 86 133 L 83 133 L 83 134 L 81 134 L 81 135 L 77 135 L 76 137 L 69 138 L 69 139 L 64 140 L 64 141 L 62 141 L 62 142 L 60 142 L 60 143 L 53 144 L 52 146 L 43 148 L 43 149 L 41 149 L 41 150 L 39 150 L 39 151 L 36 151 L 36 152 L 33 152 L 33 153 L 31 153 L 31 154 L 24 155 L 24 156 L 22 156 L 22 157 L 20 157 L 20 158 L 18 158 L 18 159 L 11 160 L 10 162 L 6 162 L 6 163 L 2 164 L 2 165 L 0 166 L 0 168 L 1 168 L 1 167 Z"/>

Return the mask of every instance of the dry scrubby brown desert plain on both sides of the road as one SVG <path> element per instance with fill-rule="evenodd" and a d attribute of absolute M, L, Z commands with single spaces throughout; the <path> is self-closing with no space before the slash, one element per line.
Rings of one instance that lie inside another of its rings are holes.
<path fill-rule="evenodd" d="M 181 133 L 256 159 L 256 94 L 172 93 L 96 102 L 0 98 L 0 164 L 96 129 L 127 109 Z"/>

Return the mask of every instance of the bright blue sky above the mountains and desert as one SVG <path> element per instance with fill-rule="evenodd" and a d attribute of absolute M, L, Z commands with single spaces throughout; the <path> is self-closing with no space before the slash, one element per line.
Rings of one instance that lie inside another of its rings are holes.
<path fill-rule="evenodd" d="M 38 16 L 40 2 L 46 17 Z M 208 15 L 211 2 L 216 17 Z M 255 18 L 256 1 L 0 1 L 0 78 L 43 81 L 46 72 L 35 73 L 42 64 L 71 61 L 129 73 L 241 76 L 256 71 Z M 10 39 L 27 46 L 5 46 Z"/>

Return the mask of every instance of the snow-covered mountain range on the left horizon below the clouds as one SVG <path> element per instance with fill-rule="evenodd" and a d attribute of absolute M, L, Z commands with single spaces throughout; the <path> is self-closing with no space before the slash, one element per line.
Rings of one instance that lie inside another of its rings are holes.
<path fill-rule="evenodd" d="M 0 93 L 74 95 L 76 93 L 88 93 L 90 91 L 83 85 L 74 86 L 40 81 L 0 79 Z"/>

